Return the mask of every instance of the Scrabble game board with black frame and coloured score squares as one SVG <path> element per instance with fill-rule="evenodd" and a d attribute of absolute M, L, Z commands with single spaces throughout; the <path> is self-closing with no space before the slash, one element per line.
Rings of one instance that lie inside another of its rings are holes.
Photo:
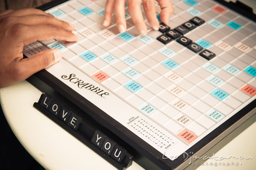
<path fill-rule="evenodd" d="M 158 31 L 142 5 L 141 36 L 127 4 L 119 33 L 115 14 L 102 26 L 106 0 L 54 3 L 44 10 L 73 24 L 78 41 L 37 41 L 23 54 L 61 50 L 39 77 L 160 168 L 180 167 L 183 153 L 200 151 L 255 108 L 252 19 L 213 0 L 172 0 L 167 25 L 155 4 Z"/>

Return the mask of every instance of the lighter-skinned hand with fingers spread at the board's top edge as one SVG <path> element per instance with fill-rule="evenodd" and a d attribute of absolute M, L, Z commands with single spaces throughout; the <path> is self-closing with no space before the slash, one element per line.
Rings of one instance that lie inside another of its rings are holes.
<path fill-rule="evenodd" d="M 103 20 L 103 26 L 108 27 L 111 21 L 113 10 L 116 13 L 116 22 L 119 32 L 123 33 L 126 31 L 126 19 L 125 19 L 125 9 L 124 3 L 126 0 L 107 0 L 105 6 L 105 16 Z M 143 20 L 142 11 L 140 8 L 141 0 L 127 0 L 128 10 L 134 25 L 139 30 L 142 36 L 145 36 L 147 33 L 146 24 Z M 170 0 L 156 0 L 158 1 L 161 7 L 160 18 L 161 22 L 168 24 L 169 17 L 174 11 L 172 3 Z M 143 7 L 148 19 L 149 24 L 153 27 L 154 30 L 159 29 L 159 21 L 156 18 L 155 11 L 155 0 L 143 0 Z"/>

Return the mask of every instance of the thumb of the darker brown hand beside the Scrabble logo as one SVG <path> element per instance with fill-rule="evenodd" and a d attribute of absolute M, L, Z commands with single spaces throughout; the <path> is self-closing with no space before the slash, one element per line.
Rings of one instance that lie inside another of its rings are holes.
<path fill-rule="evenodd" d="M 20 61 L 18 67 L 23 68 L 19 69 L 23 70 L 23 73 L 19 73 L 19 75 L 23 77 L 22 79 L 27 79 L 32 74 L 57 63 L 61 58 L 62 52 L 58 49 L 49 49 L 38 52 L 37 54 Z"/>

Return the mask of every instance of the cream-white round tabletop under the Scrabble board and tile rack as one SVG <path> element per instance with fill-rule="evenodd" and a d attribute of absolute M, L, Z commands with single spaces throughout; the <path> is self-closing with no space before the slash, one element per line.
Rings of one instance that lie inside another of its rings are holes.
<path fill-rule="evenodd" d="M 27 81 L 0 89 L 0 102 L 7 122 L 33 158 L 44 168 L 50 170 L 115 169 L 110 163 L 33 107 L 33 103 L 38 102 L 41 94 L 41 91 Z M 251 122 L 255 122 L 255 120 L 256 114 L 249 119 Z M 215 157 L 208 159 L 203 165 L 201 165 L 203 158 L 198 159 L 195 165 L 191 164 L 187 169 L 204 170 L 206 167 L 207 170 L 216 168 L 254 169 L 255 129 L 256 123 L 253 123 L 241 133 L 241 130 L 232 132 L 236 137 L 228 141 L 226 146 L 217 153 L 212 149 L 205 154 L 211 157 L 214 153 Z M 232 134 L 230 135 L 232 137 Z M 224 138 L 224 144 L 217 144 L 220 146 L 216 147 L 225 145 L 226 138 Z M 230 156 L 233 157 L 220 158 Z M 241 164 L 240 160 L 235 157 L 241 158 Z M 129 169 L 140 170 L 143 168 L 133 161 L 133 165 Z"/>

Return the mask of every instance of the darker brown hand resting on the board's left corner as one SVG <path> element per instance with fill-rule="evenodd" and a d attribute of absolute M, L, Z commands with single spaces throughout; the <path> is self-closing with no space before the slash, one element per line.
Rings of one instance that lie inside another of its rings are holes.
<path fill-rule="evenodd" d="M 37 40 L 77 41 L 74 27 L 35 8 L 0 13 L 0 87 L 25 80 L 62 58 L 62 52 L 49 49 L 23 58 L 23 47 Z"/>

